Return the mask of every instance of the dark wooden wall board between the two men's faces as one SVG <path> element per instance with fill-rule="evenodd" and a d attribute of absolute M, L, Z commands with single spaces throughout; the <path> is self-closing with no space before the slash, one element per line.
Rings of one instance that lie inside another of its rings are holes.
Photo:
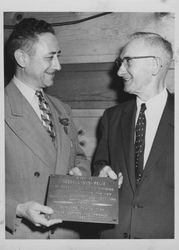
<path fill-rule="evenodd" d="M 62 65 L 47 93 L 74 109 L 105 109 L 132 98 L 123 91 L 122 79 L 116 73 L 114 63 Z M 167 74 L 166 85 L 174 91 L 173 65 Z"/>

